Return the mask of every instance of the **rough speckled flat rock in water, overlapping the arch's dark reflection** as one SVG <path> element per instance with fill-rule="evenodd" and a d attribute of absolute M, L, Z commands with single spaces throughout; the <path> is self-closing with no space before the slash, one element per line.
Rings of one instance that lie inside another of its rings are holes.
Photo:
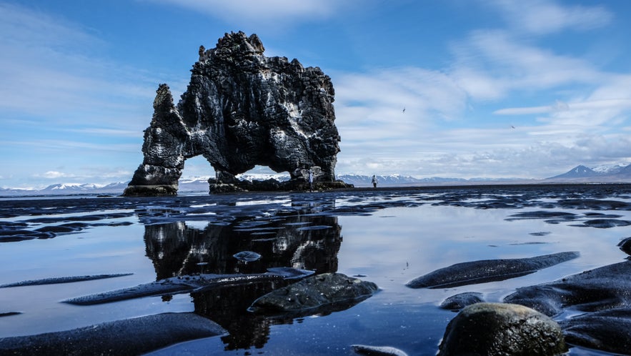
<path fill-rule="evenodd" d="M 377 285 L 341 273 L 305 278 L 255 300 L 249 310 L 262 314 L 332 312 L 371 297 Z"/>

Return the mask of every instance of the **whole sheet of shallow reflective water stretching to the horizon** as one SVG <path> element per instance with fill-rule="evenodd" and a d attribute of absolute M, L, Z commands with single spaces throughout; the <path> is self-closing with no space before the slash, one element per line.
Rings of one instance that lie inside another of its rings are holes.
<path fill-rule="evenodd" d="M 0 314 L 21 314 L 0 317 L 0 337 L 159 312 L 197 312 L 230 335 L 185 342 L 153 354 L 352 355 L 350 345 L 364 344 L 397 347 L 409 355 L 434 355 L 455 315 L 439 309 L 446 297 L 482 292 L 488 301 L 499 302 L 517 287 L 620 262 L 627 255 L 616 244 L 631 236 L 626 226 L 630 221 L 628 185 L 4 199 L 0 242 L 6 242 L 0 243 L 4 272 L 0 285 L 49 277 L 133 275 L 2 288 Z M 64 224 L 73 230 L 51 228 Z M 53 233 L 29 234 L 38 229 Z M 246 263 L 233 257 L 242 251 L 257 252 L 262 258 Z M 437 290 L 404 285 L 457 262 L 564 251 L 578 251 L 581 256 L 501 282 Z M 252 301 L 276 287 L 271 282 L 103 305 L 61 302 L 177 275 L 257 273 L 268 267 L 362 276 L 380 290 L 347 310 L 299 318 L 247 312 Z M 595 353 L 578 347 L 570 350 L 570 355 Z"/>

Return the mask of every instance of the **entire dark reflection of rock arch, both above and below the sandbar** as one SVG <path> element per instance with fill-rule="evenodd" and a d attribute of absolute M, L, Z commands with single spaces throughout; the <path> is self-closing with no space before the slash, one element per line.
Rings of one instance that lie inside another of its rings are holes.
<path fill-rule="evenodd" d="M 185 222 L 146 225 L 144 239 L 157 279 L 202 271 L 257 273 L 269 267 L 300 267 L 325 273 L 337 272 L 341 231 L 337 217 L 294 215 L 211 223 L 203 230 L 190 228 Z M 244 250 L 257 252 L 262 258 L 246 264 L 232 256 Z M 259 282 L 194 293 L 195 312 L 230 332 L 222 338 L 228 349 L 262 347 L 267 342 L 269 325 L 283 320 L 254 315 L 247 308 L 257 297 L 286 283 Z"/>

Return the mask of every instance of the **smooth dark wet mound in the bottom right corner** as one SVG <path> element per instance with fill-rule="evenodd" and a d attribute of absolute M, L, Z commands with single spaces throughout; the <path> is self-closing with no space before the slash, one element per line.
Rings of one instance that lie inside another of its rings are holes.
<path fill-rule="evenodd" d="M 631 351 L 630 308 L 587 313 L 563 320 L 560 325 L 565 340 L 572 345 L 616 354 Z"/>

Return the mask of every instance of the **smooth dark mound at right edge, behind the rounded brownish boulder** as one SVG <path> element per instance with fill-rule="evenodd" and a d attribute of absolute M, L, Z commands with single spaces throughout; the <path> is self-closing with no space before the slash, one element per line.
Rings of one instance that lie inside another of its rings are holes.
<path fill-rule="evenodd" d="M 504 302 L 531 307 L 545 315 L 564 308 L 595 312 L 631 307 L 631 261 L 609 264 L 541 285 L 518 288 Z"/>

